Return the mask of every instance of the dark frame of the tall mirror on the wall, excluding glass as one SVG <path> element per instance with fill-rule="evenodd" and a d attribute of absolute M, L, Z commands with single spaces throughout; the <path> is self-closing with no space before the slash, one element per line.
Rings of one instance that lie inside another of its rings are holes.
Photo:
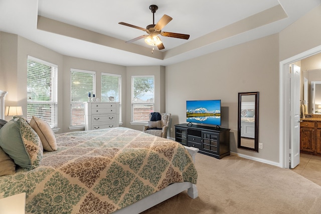
<path fill-rule="evenodd" d="M 255 100 L 254 100 L 254 106 L 255 106 L 255 121 L 254 121 L 254 148 L 251 147 L 246 147 L 241 145 L 241 101 L 242 101 L 242 96 L 246 95 L 255 95 Z M 237 132 L 238 132 L 238 142 L 237 142 L 237 147 L 242 148 L 242 149 L 247 149 L 247 150 L 252 150 L 258 152 L 258 133 L 259 133 L 259 92 L 244 92 L 244 93 L 239 93 L 238 96 L 238 127 L 237 127 Z"/>

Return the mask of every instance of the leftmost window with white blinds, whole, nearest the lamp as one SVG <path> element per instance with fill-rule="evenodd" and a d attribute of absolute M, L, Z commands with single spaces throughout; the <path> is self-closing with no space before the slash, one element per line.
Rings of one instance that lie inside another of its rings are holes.
<path fill-rule="evenodd" d="M 53 129 L 58 128 L 57 73 L 57 65 L 28 56 L 27 119 L 39 117 Z"/>

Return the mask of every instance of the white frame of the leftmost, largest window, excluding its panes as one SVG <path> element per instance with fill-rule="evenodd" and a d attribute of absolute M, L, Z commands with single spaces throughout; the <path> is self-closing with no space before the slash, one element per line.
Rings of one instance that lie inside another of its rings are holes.
<path fill-rule="evenodd" d="M 28 73 L 28 61 L 29 60 L 32 60 L 32 61 L 35 61 L 35 62 L 38 62 L 38 63 L 41 63 L 41 64 L 51 67 L 51 100 L 50 101 L 39 101 L 39 100 L 31 100 L 30 98 L 27 98 L 27 119 L 30 120 L 32 118 L 32 116 L 39 117 L 39 118 L 43 119 L 45 122 L 47 122 L 54 131 L 57 131 L 58 130 L 58 66 L 53 63 L 46 62 L 44 60 L 41 60 L 41 59 L 38 59 L 38 58 L 28 55 L 27 56 L 27 73 Z M 27 84 L 27 87 L 28 87 L 28 84 Z M 27 89 L 27 93 L 28 93 L 28 89 Z M 34 104 L 39 104 L 39 105 L 41 105 L 41 104 L 48 105 L 49 104 L 49 105 L 51 105 L 52 111 L 51 111 L 50 119 L 42 118 L 41 114 L 31 115 L 31 112 L 28 111 L 28 106 L 34 105 Z"/>

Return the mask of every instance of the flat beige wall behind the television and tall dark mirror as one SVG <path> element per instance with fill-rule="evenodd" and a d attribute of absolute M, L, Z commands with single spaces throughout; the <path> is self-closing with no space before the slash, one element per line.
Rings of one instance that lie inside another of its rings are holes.
<path fill-rule="evenodd" d="M 275 34 L 167 66 L 166 110 L 173 115 L 173 130 L 174 124 L 186 122 L 186 100 L 221 99 L 221 127 L 231 129 L 231 151 L 277 162 L 278 63 Z M 237 148 L 238 93 L 255 91 L 260 93 L 259 142 L 263 143 L 258 153 Z"/>

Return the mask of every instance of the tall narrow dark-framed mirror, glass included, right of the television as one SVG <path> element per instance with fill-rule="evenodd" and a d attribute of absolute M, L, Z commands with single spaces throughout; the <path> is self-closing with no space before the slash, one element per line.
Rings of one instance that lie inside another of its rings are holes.
<path fill-rule="evenodd" d="M 238 148 L 258 152 L 259 92 L 239 93 Z"/>

